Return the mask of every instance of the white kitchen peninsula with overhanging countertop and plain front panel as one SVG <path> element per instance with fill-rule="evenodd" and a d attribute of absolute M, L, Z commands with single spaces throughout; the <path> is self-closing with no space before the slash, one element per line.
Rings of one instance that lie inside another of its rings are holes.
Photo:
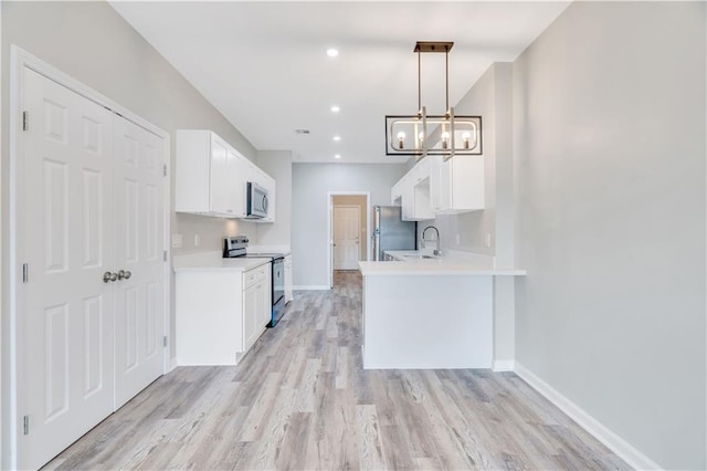
<path fill-rule="evenodd" d="M 359 262 L 363 275 L 365 368 L 490 368 L 494 278 L 525 275 L 490 257 Z"/>

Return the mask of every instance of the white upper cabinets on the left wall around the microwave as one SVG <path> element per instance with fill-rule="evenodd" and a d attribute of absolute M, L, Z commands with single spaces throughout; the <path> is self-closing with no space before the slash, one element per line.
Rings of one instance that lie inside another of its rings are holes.
<path fill-rule="evenodd" d="M 246 184 L 255 181 L 267 188 L 272 208 L 260 221 L 275 220 L 273 178 L 211 130 L 179 129 L 176 136 L 175 211 L 245 218 Z"/>

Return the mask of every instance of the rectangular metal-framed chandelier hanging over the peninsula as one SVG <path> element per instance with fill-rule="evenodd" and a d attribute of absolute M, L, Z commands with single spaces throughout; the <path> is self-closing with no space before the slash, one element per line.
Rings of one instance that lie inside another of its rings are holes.
<path fill-rule="evenodd" d="M 450 107 L 450 51 L 453 42 L 418 41 L 418 114 L 386 116 L 386 155 L 415 156 L 442 155 L 450 159 L 455 155 L 482 154 L 482 117 L 455 116 Z M 421 54 L 445 54 L 446 113 L 428 115 L 422 106 Z"/>

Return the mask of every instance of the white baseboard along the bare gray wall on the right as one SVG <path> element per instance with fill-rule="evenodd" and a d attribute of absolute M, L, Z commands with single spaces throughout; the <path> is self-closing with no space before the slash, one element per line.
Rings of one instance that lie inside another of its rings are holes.
<path fill-rule="evenodd" d="M 557 406 L 562 412 L 567 414 L 572 420 L 579 423 L 584 430 L 591 433 L 597 440 L 601 441 L 606 448 L 616 453 L 619 458 L 624 460 L 629 465 L 636 470 L 659 470 L 658 464 L 648 457 L 636 450 L 633 446 L 611 431 L 599 420 L 590 416 L 584 409 L 562 396 L 552 386 L 545 383 L 532 371 L 520 365 L 515 364 L 514 371 L 535 390 L 545 396 L 550 402 Z"/>

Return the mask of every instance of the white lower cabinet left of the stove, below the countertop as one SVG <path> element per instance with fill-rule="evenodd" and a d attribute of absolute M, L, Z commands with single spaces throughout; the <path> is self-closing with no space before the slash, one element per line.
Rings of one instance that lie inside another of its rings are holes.
<path fill-rule="evenodd" d="M 178 365 L 235 365 L 271 318 L 271 265 L 175 276 Z"/>

